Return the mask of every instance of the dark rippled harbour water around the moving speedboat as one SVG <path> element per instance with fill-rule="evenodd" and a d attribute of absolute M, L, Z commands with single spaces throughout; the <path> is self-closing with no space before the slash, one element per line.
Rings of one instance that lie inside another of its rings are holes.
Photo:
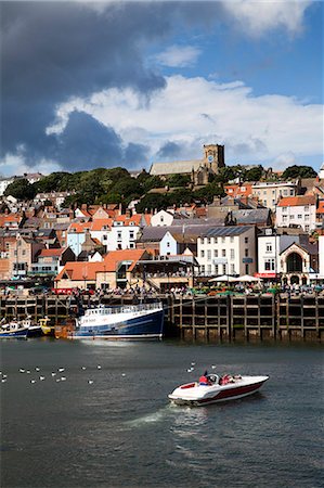
<path fill-rule="evenodd" d="M 169 404 L 211 364 L 270 380 L 234 402 Z M 1 487 L 324 486 L 320 346 L 8 341 L 1 371 Z"/>

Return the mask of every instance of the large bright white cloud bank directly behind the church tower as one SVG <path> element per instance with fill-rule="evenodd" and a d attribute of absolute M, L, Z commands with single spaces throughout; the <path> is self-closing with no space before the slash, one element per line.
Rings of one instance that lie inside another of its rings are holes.
<path fill-rule="evenodd" d="M 204 143 L 224 143 L 228 164 L 281 167 L 287 155 L 295 163 L 322 154 L 322 105 L 293 97 L 255 97 L 242 81 L 171 76 L 148 105 L 131 90 L 112 89 L 61 106 L 63 119 L 74 108 L 112 126 L 125 143 L 148 145 L 152 157 L 167 141 L 181 144 L 178 158 L 183 159 L 200 157 Z"/>

